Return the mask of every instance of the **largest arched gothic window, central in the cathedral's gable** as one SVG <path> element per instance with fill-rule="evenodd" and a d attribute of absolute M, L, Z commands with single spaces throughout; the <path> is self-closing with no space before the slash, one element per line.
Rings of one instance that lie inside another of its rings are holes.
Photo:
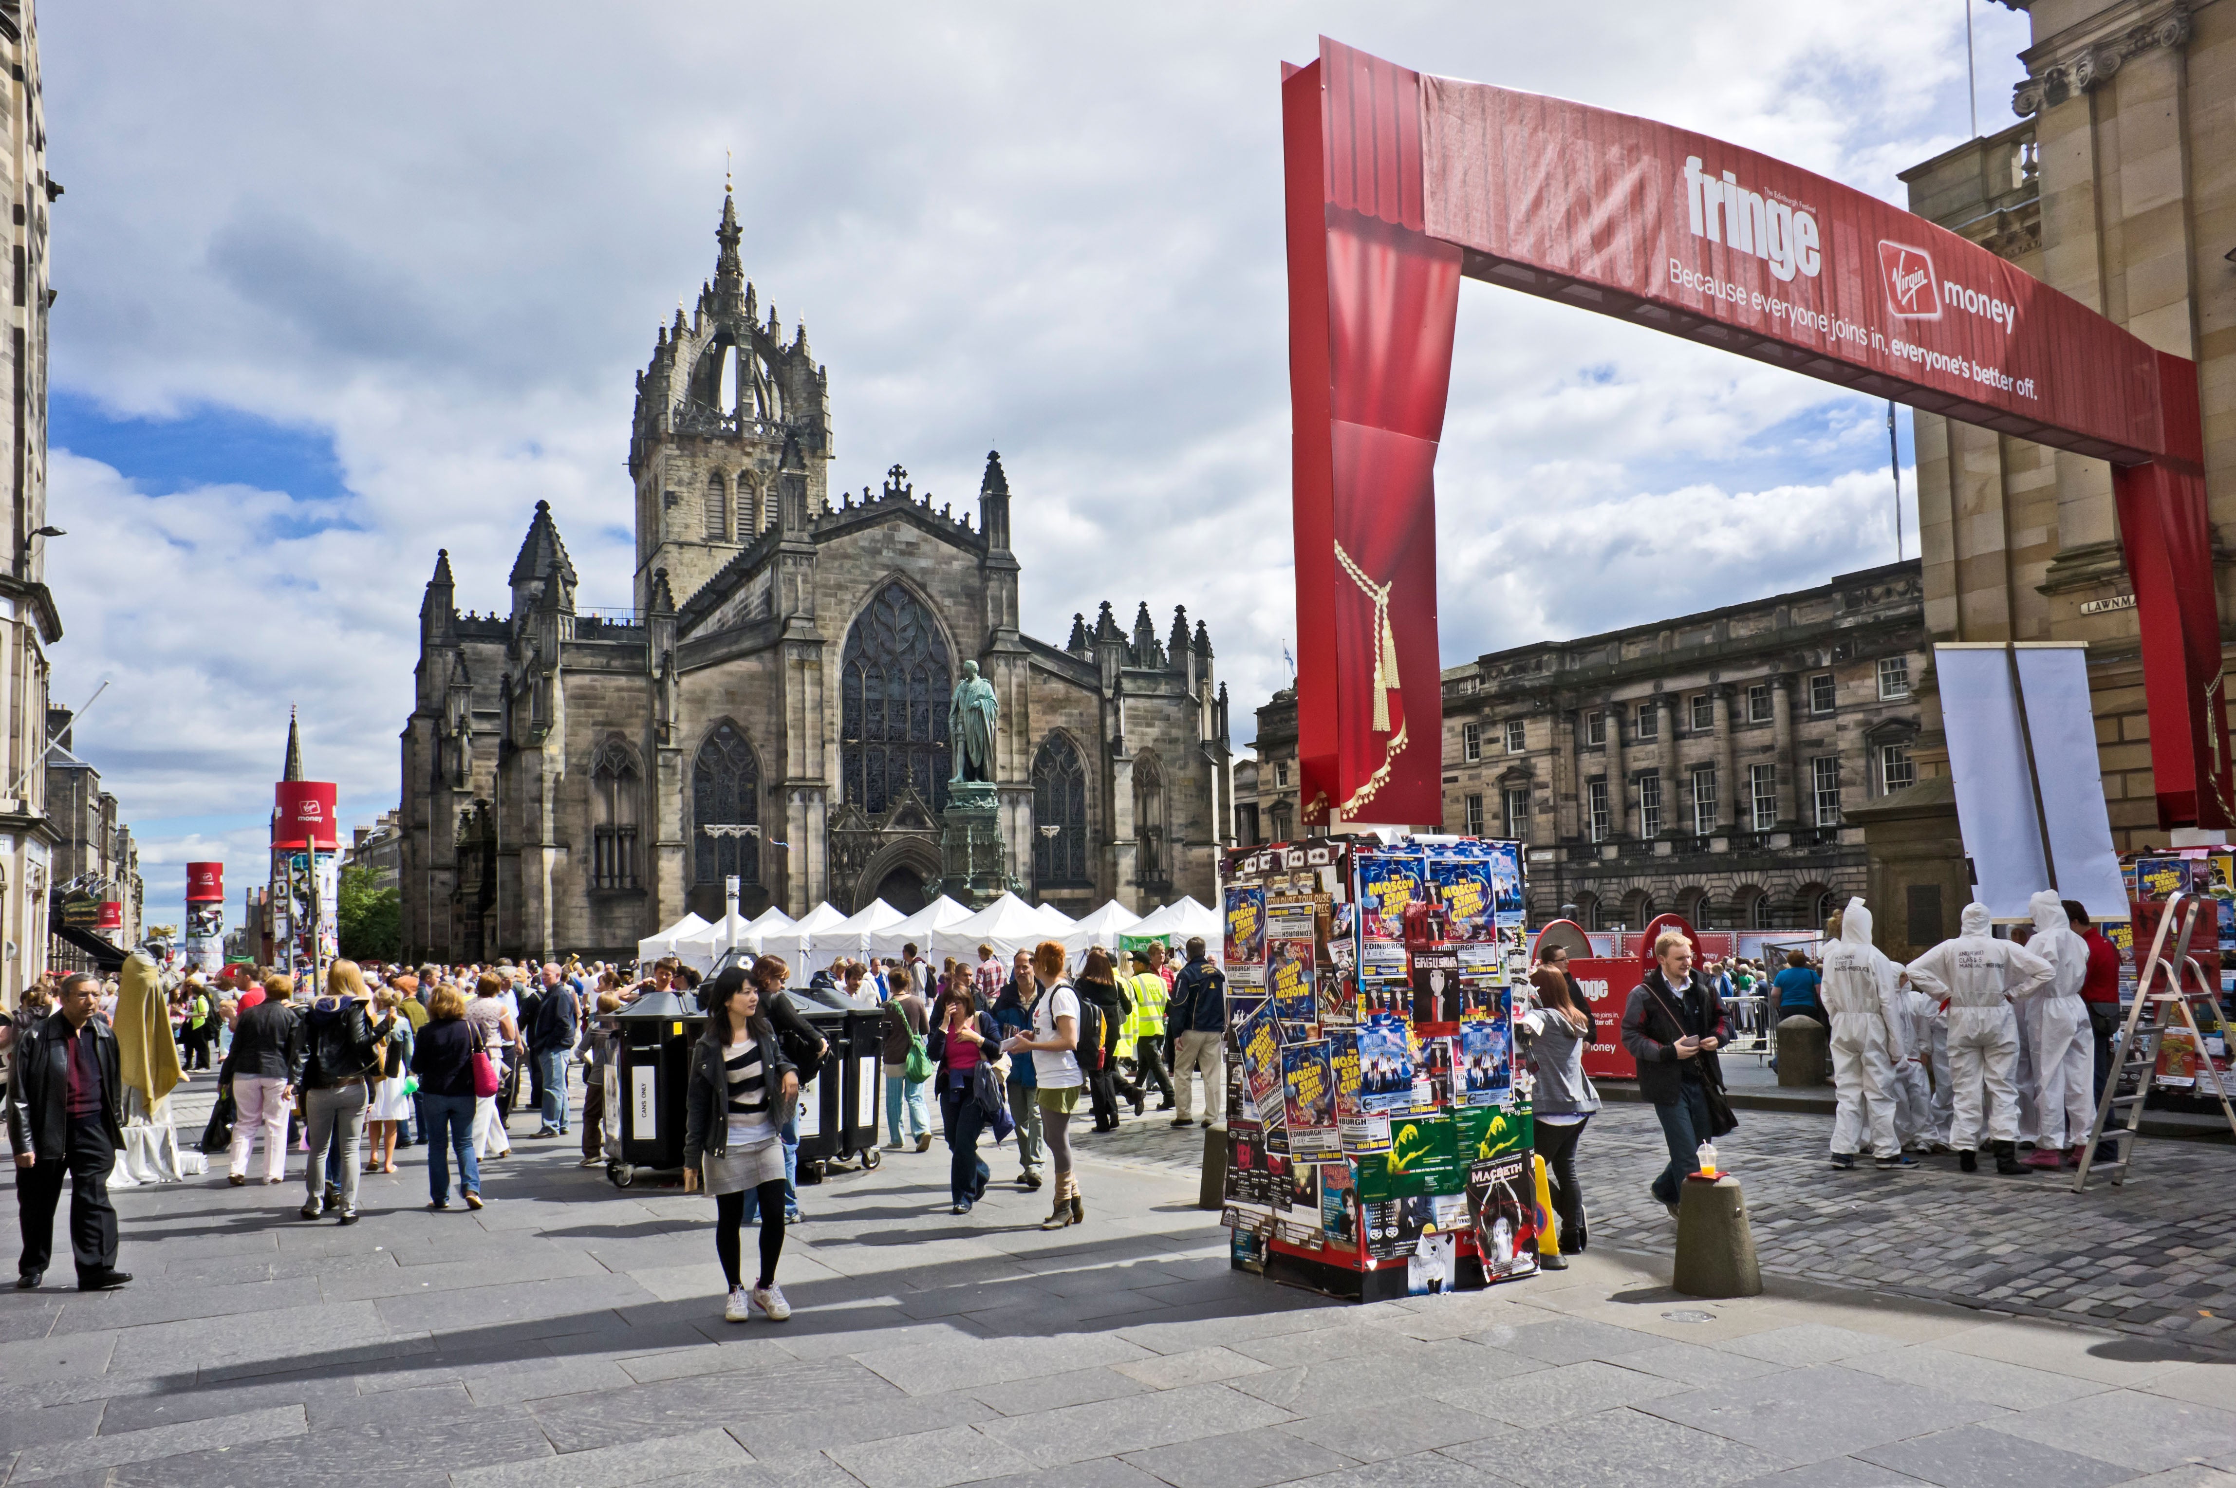
<path fill-rule="evenodd" d="M 903 789 L 948 804 L 948 643 L 917 597 L 888 583 L 845 637 L 839 769 L 845 798 L 877 815 Z"/>

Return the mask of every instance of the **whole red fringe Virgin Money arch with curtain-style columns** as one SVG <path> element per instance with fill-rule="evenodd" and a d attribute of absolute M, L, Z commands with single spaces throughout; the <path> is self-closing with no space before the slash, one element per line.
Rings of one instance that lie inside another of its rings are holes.
<path fill-rule="evenodd" d="M 1281 112 L 1308 815 L 1442 813 L 1429 467 L 1458 255 L 1474 279 L 2111 460 L 2160 822 L 2232 824 L 2194 362 L 1878 197 L 1648 118 L 1328 38 Z"/>

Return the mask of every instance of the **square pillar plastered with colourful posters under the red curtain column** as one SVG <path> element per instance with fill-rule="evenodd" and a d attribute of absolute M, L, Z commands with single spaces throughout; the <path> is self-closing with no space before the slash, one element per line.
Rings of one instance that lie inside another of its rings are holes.
<path fill-rule="evenodd" d="M 1520 845 L 1230 849 L 1219 903 L 1234 1267 L 1362 1300 L 1527 1276 L 1541 1220 L 1512 1037 Z M 1485 1164 L 1505 1164 L 1498 1182 L 1471 1182 Z"/>

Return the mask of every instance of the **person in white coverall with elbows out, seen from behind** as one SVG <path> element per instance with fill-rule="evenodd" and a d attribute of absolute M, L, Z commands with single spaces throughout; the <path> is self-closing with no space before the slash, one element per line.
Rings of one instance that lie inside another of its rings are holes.
<path fill-rule="evenodd" d="M 2057 976 L 2055 967 L 2010 941 L 1988 934 L 1988 905 L 1965 905 L 1963 932 L 1910 963 L 1910 985 L 1948 1003 L 1950 1146 L 1957 1166 L 1979 1171 L 1981 1128 L 1995 1144 L 1997 1173 L 2024 1173 L 2019 1139 L 2019 1017 L 2012 1003 Z M 1986 1097 L 1986 1113 L 1981 1110 Z"/>

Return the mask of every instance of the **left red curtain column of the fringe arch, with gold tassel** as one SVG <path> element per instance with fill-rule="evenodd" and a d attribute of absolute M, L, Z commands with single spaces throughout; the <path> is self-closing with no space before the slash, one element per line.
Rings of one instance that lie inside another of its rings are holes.
<path fill-rule="evenodd" d="M 1304 815 L 1440 824 L 1436 445 L 1460 250 L 1420 232 L 1420 78 L 1326 47 L 1281 85 Z"/>

